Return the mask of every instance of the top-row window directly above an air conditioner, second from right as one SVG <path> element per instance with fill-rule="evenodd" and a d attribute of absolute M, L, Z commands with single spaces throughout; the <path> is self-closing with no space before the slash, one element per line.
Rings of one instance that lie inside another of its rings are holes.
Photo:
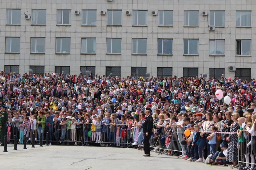
<path fill-rule="evenodd" d="M 225 26 L 225 11 L 210 11 L 210 26 Z"/>

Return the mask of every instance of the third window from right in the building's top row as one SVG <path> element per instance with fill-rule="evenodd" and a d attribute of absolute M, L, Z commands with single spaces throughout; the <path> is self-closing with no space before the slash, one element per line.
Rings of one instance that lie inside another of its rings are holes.
<path fill-rule="evenodd" d="M 184 26 L 199 26 L 199 11 L 184 11 Z"/>

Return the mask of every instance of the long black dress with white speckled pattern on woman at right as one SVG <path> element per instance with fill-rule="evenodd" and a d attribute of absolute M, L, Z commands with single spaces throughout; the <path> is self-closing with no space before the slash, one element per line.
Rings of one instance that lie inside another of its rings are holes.
<path fill-rule="evenodd" d="M 230 132 L 237 132 L 240 128 L 238 122 L 235 122 L 230 129 Z M 227 161 L 234 162 L 238 161 L 238 150 L 237 150 L 237 143 L 238 143 L 238 136 L 237 134 L 229 134 L 228 138 L 230 142 L 228 143 L 228 154 L 227 154 Z"/>

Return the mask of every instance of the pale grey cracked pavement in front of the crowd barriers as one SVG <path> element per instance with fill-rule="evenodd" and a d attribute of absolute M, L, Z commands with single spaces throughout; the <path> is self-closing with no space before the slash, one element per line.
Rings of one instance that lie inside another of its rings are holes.
<path fill-rule="evenodd" d="M 224 166 L 207 166 L 177 157 L 158 155 L 151 152 L 151 157 L 142 157 L 143 151 L 127 148 L 94 147 L 94 146 L 43 146 L 36 145 L 13 151 L 13 145 L 8 145 L 8 152 L 2 152 L 0 147 L 0 168 L 9 169 L 53 169 L 53 170 L 228 170 Z"/>

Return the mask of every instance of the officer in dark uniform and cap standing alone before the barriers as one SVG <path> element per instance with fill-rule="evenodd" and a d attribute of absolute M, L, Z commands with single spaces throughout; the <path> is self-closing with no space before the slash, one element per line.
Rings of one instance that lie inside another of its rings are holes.
<path fill-rule="evenodd" d="M 145 110 L 146 119 L 142 124 L 143 138 L 144 138 L 144 153 L 143 157 L 150 157 L 149 141 L 153 131 L 153 117 L 152 110 L 147 107 Z"/>

